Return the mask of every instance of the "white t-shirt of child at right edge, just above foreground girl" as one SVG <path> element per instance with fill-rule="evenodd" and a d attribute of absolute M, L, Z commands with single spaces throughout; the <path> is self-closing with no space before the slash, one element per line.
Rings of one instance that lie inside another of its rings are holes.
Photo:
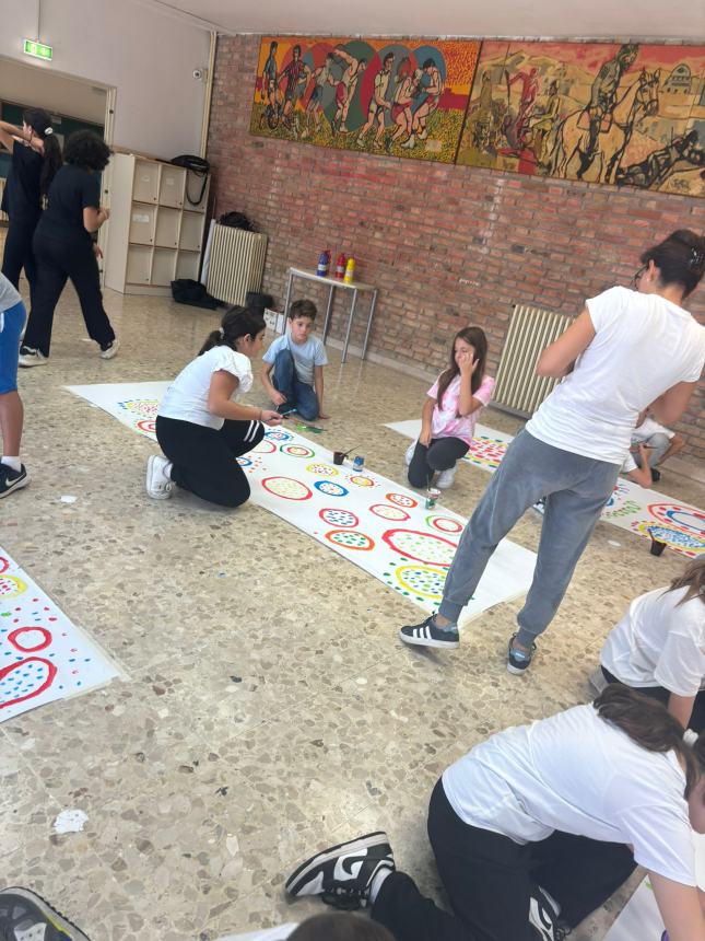
<path fill-rule="evenodd" d="M 602 666 L 627 686 L 695 696 L 705 687 L 705 604 L 679 604 L 686 593 L 661 588 L 635 599 L 604 641 Z"/>

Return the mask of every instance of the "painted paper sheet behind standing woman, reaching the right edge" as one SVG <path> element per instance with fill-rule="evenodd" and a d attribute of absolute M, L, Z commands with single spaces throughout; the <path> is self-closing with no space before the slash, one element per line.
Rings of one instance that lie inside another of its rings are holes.
<path fill-rule="evenodd" d="M 421 420 L 395 421 L 385 427 L 404 438 L 416 439 Z M 510 441 L 510 434 L 478 425 L 472 448 L 462 460 L 493 473 L 500 466 Z M 670 497 L 639 487 L 625 477 L 618 480 L 600 519 L 603 523 L 612 523 L 647 539 L 653 534 L 656 539 L 689 558 L 697 558 L 705 553 L 703 510 L 689 503 L 674 502 Z"/>

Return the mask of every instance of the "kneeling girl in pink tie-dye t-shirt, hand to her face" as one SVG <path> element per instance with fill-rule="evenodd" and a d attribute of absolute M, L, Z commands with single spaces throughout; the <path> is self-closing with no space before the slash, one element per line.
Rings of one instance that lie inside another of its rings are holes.
<path fill-rule="evenodd" d="M 480 327 L 465 327 L 453 338 L 450 365 L 426 393 L 419 441 L 407 451 L 409 483 L 428 487 L 453 486 L 457 462 L 472 444 L 480 410 L 492 398 L 494 380 L 484 374 L 487 338 Z"/>

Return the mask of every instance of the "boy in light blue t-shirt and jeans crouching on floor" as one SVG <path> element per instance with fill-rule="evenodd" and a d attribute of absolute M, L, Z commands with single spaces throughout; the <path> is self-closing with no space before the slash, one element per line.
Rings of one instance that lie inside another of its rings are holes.
<path fill-rule="evenodd" d="M 262 357 L 262 385 L 278 411 L 297 411 L 306 421 L 324 414 L 326 347 L 312 335 L 316 320 L 313 301 L 294 301 L 289 309 L 289 333 L 272 342 Z"/>

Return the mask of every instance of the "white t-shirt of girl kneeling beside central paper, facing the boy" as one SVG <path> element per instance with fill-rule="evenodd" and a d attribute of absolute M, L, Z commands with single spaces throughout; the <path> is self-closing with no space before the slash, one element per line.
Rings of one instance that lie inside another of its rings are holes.
<path fill-rule="evenodd" d="M 252 387 L 252 368 L 244 353 L 235 352 L 226 346 L 218 346 L 196 357 L 176 376 L 166 390 L 156 411 L 163 418 L 177 418 L 180 421 L 191 421 L 205 428 L 221 429 L 224 418 L 213 415 L 208 408 L 208 393 L 211 377 L 219 370 L 232 373 L 237 377 L 237 388 L 231 396 L 235 402 L 244 392 Z"/>

